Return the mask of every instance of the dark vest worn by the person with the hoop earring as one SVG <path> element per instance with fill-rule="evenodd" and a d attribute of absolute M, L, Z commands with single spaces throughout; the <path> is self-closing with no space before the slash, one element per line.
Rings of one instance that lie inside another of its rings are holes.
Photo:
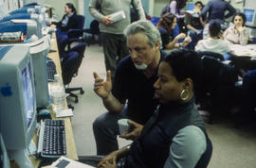
<path fill-rule="evenodd" d="M 178 130 L 183 127 L 198 126 L 204 131 L 208 139 L 204 123 L 193 100 L 183 105 L 172 104 L 168 106 L 161 106 L 158 112 L 156 110 L 155 114 L 144 126 L 141 136 L 132 143 L 130 153 L 126 157 L 124 167 L 163 167 L 165 161 L 169 157 L 172 140 Z M 154 118 L 157 119 L 155 120 Z M 206 153 L 207 152 L 202 155 L 202 161 L 205 161 L 204 156 L 208 155 Z M 200 160 L 197 162 L 197 165 L 202 165 Z"/>

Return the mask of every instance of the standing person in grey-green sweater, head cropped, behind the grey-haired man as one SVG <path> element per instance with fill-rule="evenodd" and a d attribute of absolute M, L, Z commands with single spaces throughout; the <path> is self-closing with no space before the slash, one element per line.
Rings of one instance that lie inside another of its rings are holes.
<path fill-rule="evenodd" d="M 119 60 L 129 54 L 123 30 L 131 23 L 131 5 L 137 9 L 139 18 L 145 20 L 140 0 L 90 0 L 89 3 L 90 14 L 100 22 L 105 68 L 111 71 L 112 78 Z M 124 11 L 125 18 L 114 23 L 109 15 L 120 10 Z"/>

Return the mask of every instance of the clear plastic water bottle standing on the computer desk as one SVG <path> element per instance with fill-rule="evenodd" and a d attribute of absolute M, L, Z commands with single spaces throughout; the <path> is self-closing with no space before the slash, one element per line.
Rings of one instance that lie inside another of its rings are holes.
<path fill-rule="evenodd" d="M 61 84 L 59 75 L 54 76 L 54 82 L 51 85 L 50 92 L 52 109 L 55 113 L 58 114 L 64 110 L 65 103 L 64 86 Z"/>

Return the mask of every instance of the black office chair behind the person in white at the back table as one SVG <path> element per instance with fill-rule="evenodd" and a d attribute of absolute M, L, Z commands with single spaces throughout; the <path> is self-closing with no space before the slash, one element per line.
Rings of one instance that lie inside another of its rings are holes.
<path fill-rule="evenodd" d="M 210 111 L 208 119 L 211 124 L 211 114 L 227 112 L 237 105 L 239 89 L 235 83 L 238 74 L 233 66 L 213 57 L 202 57 L 202 64 L 202 85 L 196 91 L 196 104 L 200 105 L 201 110 Z"/>

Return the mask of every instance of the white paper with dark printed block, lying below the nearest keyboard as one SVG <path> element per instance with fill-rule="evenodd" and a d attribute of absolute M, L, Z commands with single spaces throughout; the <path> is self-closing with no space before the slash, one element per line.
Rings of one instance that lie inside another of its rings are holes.
<path fill-rule="evenodd" d="M 70 160 L 65 157 L 61 157 L 59 160 L 54 161 L 47 168 L 94 168 L 88 164 L 81 163 L 76 160 Z"/>

